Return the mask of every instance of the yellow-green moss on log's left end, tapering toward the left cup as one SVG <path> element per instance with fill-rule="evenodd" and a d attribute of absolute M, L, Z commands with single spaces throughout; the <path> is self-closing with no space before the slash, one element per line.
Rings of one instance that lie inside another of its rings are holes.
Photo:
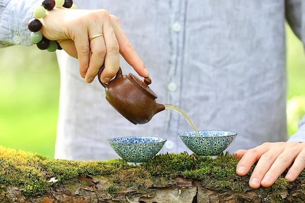
<path fill-rule="evenodd" d="M 66 183 L 84 174 L 110 175 L 128 167 L 131 166 L 120 159 L 107 162 L 56 160 L 0 146 L 0 185 L 23 185 L 25 195 L 45 192 L 48 185 L 52 185 L 47 181 L 53 177 L 57 183 Z"/>

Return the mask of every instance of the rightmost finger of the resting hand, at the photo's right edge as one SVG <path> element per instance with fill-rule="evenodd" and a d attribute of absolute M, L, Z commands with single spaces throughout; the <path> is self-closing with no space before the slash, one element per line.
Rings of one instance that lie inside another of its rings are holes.
<path fill-rule="evenodd" d="M 289 182 L 294 181 L 305 168 L 305 149 L 303 148 L 288 170 L 285 178 Z"/>

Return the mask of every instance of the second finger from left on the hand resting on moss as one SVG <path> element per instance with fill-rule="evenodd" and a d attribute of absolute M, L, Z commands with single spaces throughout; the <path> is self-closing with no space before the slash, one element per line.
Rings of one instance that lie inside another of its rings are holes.
<path fill-rule="evenodd" d="M 267 152 L 260 157 L 252 172 L 252 175 L 249 180 L 250 187 L 254 189 L 260 187 L 261 181 L 264 178 L 265 174 L 270 169 L 276 158 L 283 151 L 284 149 L 281 147 L 281 144 L 279 144 L 278 147 L 268 148 Z"/>

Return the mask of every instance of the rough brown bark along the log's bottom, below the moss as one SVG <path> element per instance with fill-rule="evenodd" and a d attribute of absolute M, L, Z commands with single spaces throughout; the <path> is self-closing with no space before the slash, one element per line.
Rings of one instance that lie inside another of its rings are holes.
<path fill-rule="evenodd" d="M 107 177 L 77 177 L 86 185 L 65 185 L 49 187 L 49 191 L 36 196 L 25 197 L 22 186 L 6 186 L 0 194 L 4 203 L 297 203 L 304 202 L 303 188 L 290 183 L 287 190 L 270 191 L 269 188 L 250 189 L 243 192 L 228 188 L 212 189 L 202 186 L 200 181 L 176 177 L 168 185 L 120 186 L 115 192 L 107 192 L 113 185 Z M 304 186 L 304 185 L 301 185 Z M 274 194 L 274 193 L 278 194 Z M 300 195 L 303 193 L 303 195 Z"/>

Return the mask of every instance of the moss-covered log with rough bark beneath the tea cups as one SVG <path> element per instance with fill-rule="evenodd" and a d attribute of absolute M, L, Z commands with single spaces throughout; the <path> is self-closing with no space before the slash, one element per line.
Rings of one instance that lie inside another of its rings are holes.
<path fill-rule="evenodd" d="M 0 147 L 1 203 L 303 203 L 305 173 L 252 189 L 226 153 L 212 160 L 162 154 L 141 166 L 121 159 L 67 161 Z M 253 169 L 253 168 L 252 168 Z"/>

